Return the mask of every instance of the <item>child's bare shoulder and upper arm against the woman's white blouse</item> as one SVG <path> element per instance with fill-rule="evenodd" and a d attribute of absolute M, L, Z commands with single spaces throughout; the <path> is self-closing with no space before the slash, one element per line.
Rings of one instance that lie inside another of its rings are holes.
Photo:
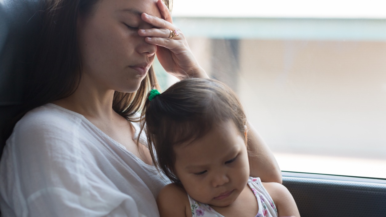
<path fill-rule="evenodd" d="M 171 183 L 158 194 L 157 205 L 160 217 L 191 217 L 190 203 L 185 190 Z"/>

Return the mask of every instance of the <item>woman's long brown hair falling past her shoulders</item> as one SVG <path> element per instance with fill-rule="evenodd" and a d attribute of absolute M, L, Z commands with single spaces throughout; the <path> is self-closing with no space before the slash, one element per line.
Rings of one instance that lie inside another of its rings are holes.
<path fill-rule="evenodd" d="M 74 93 L 82 76 L 77 20 L 79 16 L 93 15 L 99 1 L 101 0 L 41 1 L 41 10 L 37 12 L 41 20 L 41 25 L 37 28 L 41 33 L 28 69 L 23 105 L 19 115 L 6 125 L 3 144 L 12 133 L 16 122 L 29 110 Z M 171 1 L 164 0 L 169 9 Z M 139 121 L 135 114 L 141 111 L 146 94 L 152 86 L 157 86 L 153 68 L 149 70 L 136 92 L 114 93 L 113 109 L 130 121 Z"/>

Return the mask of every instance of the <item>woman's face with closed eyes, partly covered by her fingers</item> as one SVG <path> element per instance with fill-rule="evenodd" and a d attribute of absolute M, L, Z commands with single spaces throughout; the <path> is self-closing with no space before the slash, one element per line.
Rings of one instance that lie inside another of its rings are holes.
<path fill-rule="evenodd" d="M 157 47 L 145 42 L 138 29 L 152 26 L 146 12 L 161 17 L 156 0 L 100 0 L 78 22 L 82 81 L 101 90 L 135 92 L 149 70 Z"/>

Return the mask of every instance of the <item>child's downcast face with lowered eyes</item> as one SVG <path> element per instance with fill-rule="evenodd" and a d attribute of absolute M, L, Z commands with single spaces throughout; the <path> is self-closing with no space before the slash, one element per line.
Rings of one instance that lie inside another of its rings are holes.
<path fill-rule="evenodd" d="M 204 137 L 174 147 L 175 172 L 195 200 L 217 207 L 233 203 L 246 187 L 249 163 L 234 122 L 216 125 Z"/>

